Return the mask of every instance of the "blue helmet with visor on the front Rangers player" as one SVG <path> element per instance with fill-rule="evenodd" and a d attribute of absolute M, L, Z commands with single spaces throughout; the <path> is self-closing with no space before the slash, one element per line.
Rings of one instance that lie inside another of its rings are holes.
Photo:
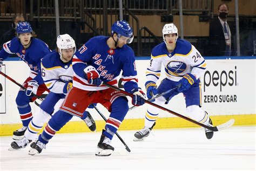
<path fill-rule="evenodd" d="M 117 37 L 120 38 L 122 35 L 124 37 L 129 38 L 127 40 L 127 44 L 130 44 L 133 40 L 133 31 L 130 27 L 129 23 L 127 23 L 125 20 L 119 20 L 117 22 L 114 22 L 111 28 L 111 34 L 117 33 Z"/>

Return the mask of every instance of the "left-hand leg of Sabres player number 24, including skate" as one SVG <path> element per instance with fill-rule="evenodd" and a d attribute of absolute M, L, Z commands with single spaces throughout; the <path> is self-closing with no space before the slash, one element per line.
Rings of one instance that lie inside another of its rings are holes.
<path fill-rule="evenodd" d="M 173 89 L 176 86 L 176 82 L 164 79 L 161 81 L 159 87 L 157 88 L 157 94 L 161 94 L 166 92 L 167 90 Z M 168 103 L 173 96 L 178 94 L 177 91 L 172 91 L 164 96 L 156 98 L 156 103 L 160 106 L 163 106 L 165 103 Z M 159 109 L 149 105 L 147 107 L 146 115 L 145 115 L 145 126 L 142 130 L 137 131 L 134 134 L 134 141 L 143 141 L 146 137 L 149 136 L 151 130 L 153 129 L 154 125 L 156 125 L 156 120 L 158 118 Z"/>

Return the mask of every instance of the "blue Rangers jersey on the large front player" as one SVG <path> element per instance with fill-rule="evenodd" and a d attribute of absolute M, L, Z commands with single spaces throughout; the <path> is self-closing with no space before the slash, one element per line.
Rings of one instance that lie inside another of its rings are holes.
<path fill-rule="evenodd" d="M 84 68 L 87 65 L 95 67 L 100 79 L 112 85 L 117 85 L 117 76 L 122 73 L 124 89 L 131 92 L 138 87 L 137 70 L 134 52 L 131 47 L 110 49 L 107 45 L 109 37 L 98 36 L 91 38 L 73 56 L 73 86 L 83 90 L 104 90 L 106 86 L 92 86 L 87 82 Z"/>

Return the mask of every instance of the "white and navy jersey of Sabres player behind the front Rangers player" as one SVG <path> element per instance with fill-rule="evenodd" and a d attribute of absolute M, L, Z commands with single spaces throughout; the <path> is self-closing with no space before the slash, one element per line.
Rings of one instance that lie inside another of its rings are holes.
<path fill-rule="evenodd" d="M 58 52 L 51 52 L 42 59 L 41 72 L 46 87 L 51 92 L 63 94 L 65 83 L 73 80 L 72 60 L 64 63 Z"/>

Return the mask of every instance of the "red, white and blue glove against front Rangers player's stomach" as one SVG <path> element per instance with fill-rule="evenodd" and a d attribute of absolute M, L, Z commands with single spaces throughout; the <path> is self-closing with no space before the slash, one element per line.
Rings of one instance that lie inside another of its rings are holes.
<path fill-rule="evenodd" d="M 84 68 L 84 73 L 86 74 L 87 81 L 89 84 L 99 87 L 102 84 L 102 81 L 99 78 L 99 73 L 93 66 L 87 66 Z"/>

